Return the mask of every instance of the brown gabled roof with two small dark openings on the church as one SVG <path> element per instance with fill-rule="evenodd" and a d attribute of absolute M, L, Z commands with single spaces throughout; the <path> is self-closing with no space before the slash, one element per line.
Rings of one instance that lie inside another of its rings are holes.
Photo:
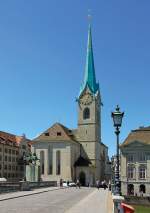
<path fill-rule="evenodd" d="M 74 141 L 75 137 L 72 130 L 68 129 L 60 123 L 55 123 L 52 127 L 44 131 L 40 136 L 33 139 L 33 141 Z M 78 142 L 77 142 L 78 143 Z"/>

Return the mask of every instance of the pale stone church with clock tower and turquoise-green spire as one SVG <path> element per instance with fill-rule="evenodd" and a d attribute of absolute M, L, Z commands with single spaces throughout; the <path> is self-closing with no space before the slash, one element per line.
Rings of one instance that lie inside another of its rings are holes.
<path fill-rule="evenodd" d="M 32 152 L 40 158 L 42 180 L 79 179 L 82 185 L 94 185 L 96 180 L 108 179 L 108 147 L 101 141 L 101 106 L 89 25 L 85 74 L 77 97 L 77 129 L 55 123 L 32 142 Z"/>

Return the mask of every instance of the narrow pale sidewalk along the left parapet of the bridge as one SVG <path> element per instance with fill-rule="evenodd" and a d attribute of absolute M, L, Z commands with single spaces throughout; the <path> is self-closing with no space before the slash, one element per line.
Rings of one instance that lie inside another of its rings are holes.
<path fill-rule="evenodd" d="M 34 189 L 32 191 L 19 191 L 19 192 L 9 192 L 5 194 L 0 194 L 0 201 L 3 200 L 10 200 L 18 197 L 25 197 L 29 195 L 34 195 L 34 194 L 40 194 L 43 192 L 48 192 L 48 191 L 54 191 L 54 190 L 59 190 L 59 189 L 64 189 L 66 187 L 46 187 L 46 188 L 39 188 L 39 189 Z"/>

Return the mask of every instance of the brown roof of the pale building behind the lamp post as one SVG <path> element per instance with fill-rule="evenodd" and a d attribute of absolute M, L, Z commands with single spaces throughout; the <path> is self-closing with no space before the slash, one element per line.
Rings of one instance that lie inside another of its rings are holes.
<path fill-rule="evenodd" d="M 127 146 L 134 141 L 139 141 L 140 143 L 150 145 L 150 126 L 132 130 L 120 147 Z"/>

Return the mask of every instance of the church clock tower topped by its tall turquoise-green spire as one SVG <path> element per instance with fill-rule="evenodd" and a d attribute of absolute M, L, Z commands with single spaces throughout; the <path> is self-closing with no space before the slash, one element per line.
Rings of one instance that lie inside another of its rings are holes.
<path fill-rule="evenodd" d="M 100 167 L 101 151 L 101 96 L 96 82 L 92 47 L 91 26 L 88 29 L 88 44 L 84 80 L 78 96 L 78 141 L 83 155 L 94 168 Z M 94 178 L 100 178 L 100 168 L 95 169 Z"/>

